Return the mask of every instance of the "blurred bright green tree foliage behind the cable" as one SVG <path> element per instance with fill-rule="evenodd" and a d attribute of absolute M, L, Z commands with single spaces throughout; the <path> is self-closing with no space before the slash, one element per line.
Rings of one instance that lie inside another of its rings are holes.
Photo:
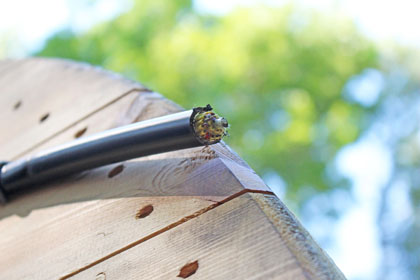
<path fill-rule="evenodd" d="M 187 108 L 212 104 L 231 124 L 226 142 L 260 174 L 280 174 L 298 203 L 302 189 L 345 186 L 327 166 L 369 112 L 343 98 L 344 86 L 377 63 L 340 16 L 286 6 L 215 17 L 189 1 L 157 0 L 86 34 L 56 34 L 38 55 L 102 65 Z"/>

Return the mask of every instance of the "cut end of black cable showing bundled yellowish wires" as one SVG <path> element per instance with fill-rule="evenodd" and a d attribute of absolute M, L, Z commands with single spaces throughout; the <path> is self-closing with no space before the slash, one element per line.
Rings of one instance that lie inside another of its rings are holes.
<path fill-rule="evenodd" d="M 220 142 L 227 135 L 228 121 L 212 111 L 213 108 L 208 104 L 206 107 L 193 109 L 191 115 L 191 125 L 197 139 L 205 144 L 215 144 Z"/>

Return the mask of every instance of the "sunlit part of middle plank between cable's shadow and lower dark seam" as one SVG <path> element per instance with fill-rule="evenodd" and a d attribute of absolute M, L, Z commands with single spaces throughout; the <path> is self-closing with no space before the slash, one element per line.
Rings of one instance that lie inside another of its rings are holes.
<path fill-rule="evenodd" d="M 0 279 L 57 279 L 211 203 L 194 197 L 134 197 L 79 202 L 64 214 L 61 205 L 36 210 L 30 220 L 40 221 L 37 227 L 1 238 Z M 137 218 L 149 205 L 150 215 Z M 53 219 L 43 219 L 51 214 Z M 22 229 L 16 220 L 13 226 Z"/>

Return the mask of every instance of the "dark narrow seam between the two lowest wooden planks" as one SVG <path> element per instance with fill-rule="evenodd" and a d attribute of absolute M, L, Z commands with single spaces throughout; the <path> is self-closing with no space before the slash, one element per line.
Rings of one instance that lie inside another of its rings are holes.
<path fill-rule="evenodd" d="M 133 248 L 133 247 L 135 247 L 135 246 L 137 246 L 137 245 L 139 245 L 139 244 L 141 244 L 141 243 L 149 240 L 149 239 L 152 239 L 152 238 L 154 238 L 154 237 L 156 237 L 156 236 L 158 236 L 158 235 L 160 235 L 160 234 L 162 234 L 164 232 L 167 232 L 167 231 L 169 231 L 169 230 L 171 230 L 171 229 L 173 229 L 173 228 L 175 228 L 175 227 L 177 227 L 177 226 L 179 226 L 181 224 L 184 224 L 184 223 L 186 223 L 186 222 L 188 222 L 188 221 L 190 221 L 190 220 L 192 220 L 194 218 L 197 218 L 197 217 L 201 216 L 202 214 L 204 214 L 204 213 L 206 213 L 206 212 L 208 212 L 210 210 L 213 210 L 216 207 L 218 207 L 220 205 L 223 205 L 226 202 L 229 202 L 229 201 L 231 201 L 231 200 L 233 200 L 233 199 L 235 199 L 235 198 L 237 198 L 237 197 L 239 197 L 239 196 L 241 196 L 243 194 L 246 194 L 246 193 L 259 193 L 259 194 L 266 194 L 266 195 L 273 195 L 273 196 L 275 196 L 275 194 L 273 192 L 270 192 L 270 191 L 244 189 L 244 190 L 242 190 L 240 192 L 237 192 L 237 193 L 235 193 L 235 194 L 233 194 L 231 196 L 226 197 L 225 199 L 223 199 L 223 200 L 221 200 L 219 202 L 216 202 L 214 204 L 211 204 L 208 207 L 205 207 L 203 209 L 200 209 L 200 210 L 194 212 L 191 215 L 185 216 L 185 217 L 181 218 L 180 220 L 178 220 L 178 221 L 176 221 L 176 222 L 174 222 L 174 223 L 172 223 L 172 224 L 170 224 L 170 225 L 168 225 L 168 226 L 166 226 L 164 228 L 161 228 L 160 230 L 157 230 L 157 231 L 155 231 L 155 232 L 153 232 L 153 233 L 151 233 L 151 234 L 149 234 L 149 235 L 147 235 L 147 236 L 145 236 L 143 238 L 140 238 L 139 240 L 136 240 L 136 241 L 134 241 L 134 242 L 132 242 L 132 243 L 130 243 L 130 244 L 128 244 L 128 245 L 126 245 L 126 246 L 124 246 L 124 247 L 122 247 L 122 248 L 120 248 L 120 249 L 118 249 L 118 250 L 116 250 L 116 251 L 114 251 L 114 252 L 112 252 L 112 253 L 110 253 L 110 254 L 108 254 L 108 255 L 106 255 L 106 256 L 104 256 L 104 257 L 102 257 L 102 258 L 100 258 L 100 259 L 98 259 L 98 260 L 96 260 L 96 261 L 94 261 L 92 263 L 90 263 L 90 264 L 88 264 L 88 265 L 85 265 L 85 266 L 83 266 L 83 267 L 81 267 L 81 268 L 79 268 L 79 269 L 77 269 L 77 270 L 75 270 L 75 271 L 73 271 L 73 272 L 71 272 L 69 274 L 66 274 L 66 275 L 62 276 L 60 278 L 60 280 L 65 280 L 65 279 L 68 279 L 70 277 L 73 277 L 73 276 L 75 276 L 76 274 L 78 274 L 78 273 L 80 273 L 82 271 L 85 271 L 85 270 L 87 270 L 87 269 L 89 269 L 89 268 L 91 268 L 91 267 L 93 267 L 93 266 L 95 266 L 95 265 L 97 265 L 97 264 L 99 264 L 101 262 L 104 262 L 104 261 L 106 261 L 106 260 L 108 260 L 108 259 L 110 259 L 110 258 L 112 258 L 112 257 L 114 257 L 114 256 L 116 256 L 118 254 L 121 254 L 121 253 L 123 253 L 123 252 L 125 252 L 125 251 L 127 251 L 127 250 L 129 250 L 129 249 L 131 249 L 131 248 Z"/>

